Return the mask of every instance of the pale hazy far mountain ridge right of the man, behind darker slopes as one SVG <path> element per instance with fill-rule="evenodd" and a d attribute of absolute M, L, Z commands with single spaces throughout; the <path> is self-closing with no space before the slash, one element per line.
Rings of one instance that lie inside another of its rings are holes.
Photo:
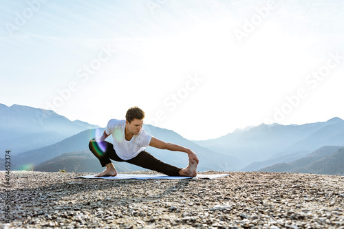
<path fill-rule="evenodd" d="M 235 155 L 246 164 L 240 171 L 257 171 L 278 162 L 297 160 L 325 145 L 344 146 L 344 121 L 302 125 L 260 124 L 220 138 L 193 141 L 218 153 Z"/>

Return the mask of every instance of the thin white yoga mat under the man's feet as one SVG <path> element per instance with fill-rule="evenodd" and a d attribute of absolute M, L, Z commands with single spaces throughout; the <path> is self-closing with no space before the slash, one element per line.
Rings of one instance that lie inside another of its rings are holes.
<path fill-rule="evenodd" d="M 94 175 L 85 175 L 73 178 L 91 178 L 91 179 L 215 179 L 219 177 L 226 177 L 229 174 L 197 174 L 197 177 L 171 177 L 168 175 L 153 175 L 153 174 L 118 174 L 116 177 L 94 177 Z"/>

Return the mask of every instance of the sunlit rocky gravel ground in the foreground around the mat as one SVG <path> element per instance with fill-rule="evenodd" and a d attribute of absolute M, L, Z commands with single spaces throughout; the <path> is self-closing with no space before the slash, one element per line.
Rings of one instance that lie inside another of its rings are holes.
<path fill-rule="evenodd" d="M 341 176 L 72 178 L 89 174 L 1 172 L 2 228 L 344 228 Z"/>

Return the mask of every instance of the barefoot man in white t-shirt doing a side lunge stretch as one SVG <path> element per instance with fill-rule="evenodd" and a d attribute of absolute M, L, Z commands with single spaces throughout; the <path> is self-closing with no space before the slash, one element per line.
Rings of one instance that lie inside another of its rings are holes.
<path fill-rule="evenodd" d="M 89 142 L 89 149 L 98 158 L 105 171 L 95 177 L 116 176 L 117 171 L 111 160 L 117 162 L 128 162 L 158 171 L 169 176 L 195 177 L 197 175 L 197 164 L 199 162 L 196 153 L 178 144 L 163 142 L 154 138 L 142 129 L 144 111 L 138 107 L 131 107 L 126 115 L 126 120 L 109 120 L 101 138 L 93 138 Z M 112 135 L 114 144 L 104 140 Z M 150 153 L 145 151 L 146 146 L 153 146 L 158 149 L 180 151 L 189 156 L 189 165 L 186 168 L 178 168 L 166 164 Z"/>

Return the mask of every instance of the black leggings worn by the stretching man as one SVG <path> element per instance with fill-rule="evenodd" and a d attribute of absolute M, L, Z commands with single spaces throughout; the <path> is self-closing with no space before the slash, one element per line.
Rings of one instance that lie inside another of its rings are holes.
<path fill-rule="evenodd" d="M 111 163 L 110 159 L 112 159 L 116 162 L 128 162 L 130 164 L 135 164 L 137 166 L 141 166 L 142 168 L 164 173 L 169 176 L 180 176 L 179 171 L 182 169 L 172 166 L 171 164 L 166 164 L 146 151 L 140 152 L 136 157 L 133 157 L 129 160 L 122 160 L 120 157 L 118 157 L 116 151 L 114 150 L 114 145 L 109 142 L 89 142 L 89 150 L 92 151 L 92 153 L 99 159 L 102 167 Z"/>

